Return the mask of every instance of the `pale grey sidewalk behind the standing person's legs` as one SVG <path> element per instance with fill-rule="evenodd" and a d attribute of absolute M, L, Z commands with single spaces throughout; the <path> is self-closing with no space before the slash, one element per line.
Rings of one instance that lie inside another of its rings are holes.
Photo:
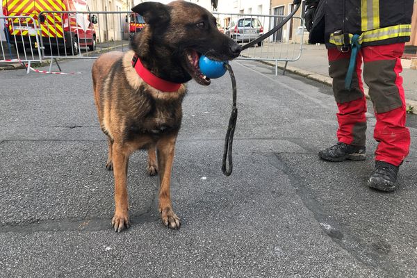
<path fill-rule="evenodd" d="M 285 63 L 278 63 L 284 67 Z M 293 72 L 308 79 L 313 79 L 321 83 L 332 85 L 332 79 L 329 76 L 327 62 L 327 51 L 324 44 L 314 45 L 305 44 L 302 49 L 302 56 L 295 62 L 288 63 L 288 72 Z M 407 105 L 414 106 L 414 113 L 417 111 L 417 70 L 411 70 L 410 60 L 402 59 L 402 78 L 404 79 L 404 92 Z M 368 96 L 368 86 L 365 87 L 365 93 Z"/>

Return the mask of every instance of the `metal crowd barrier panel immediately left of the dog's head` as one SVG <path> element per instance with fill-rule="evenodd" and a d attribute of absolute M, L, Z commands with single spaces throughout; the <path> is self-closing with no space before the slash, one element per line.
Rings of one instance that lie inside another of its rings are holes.
<path fill-rule="evenodd" d="M 124 51 L 129 39 L 140 32 L 145 23 L 142 17 L 130 11 L 44 11 L 39 19 L 42 56 L 51 59 L 49 71 L 54 60 L 58 65 L 57 58 L 97 58 L 97 46 L 99 52 L 117 47 Z"/>

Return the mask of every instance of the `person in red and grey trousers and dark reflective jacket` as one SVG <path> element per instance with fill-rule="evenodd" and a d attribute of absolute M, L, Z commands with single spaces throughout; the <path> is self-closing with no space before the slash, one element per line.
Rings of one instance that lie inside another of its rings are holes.
<path fill-rule="evenodd" d="M 326 44 L 338 106 L 338 142 L 320 149 L 318 155 L 335 162 L 366 159 L 363 63 L 363 80 L 376 117 L 373 136 L 378 142 L 368 186 L 387 192 L 397 187 L 398 170 L 409 154 L 400 72 L 404 43 L 411 35 L 413 5 L 414 0 L 306 0 L 309 43 Z"/>

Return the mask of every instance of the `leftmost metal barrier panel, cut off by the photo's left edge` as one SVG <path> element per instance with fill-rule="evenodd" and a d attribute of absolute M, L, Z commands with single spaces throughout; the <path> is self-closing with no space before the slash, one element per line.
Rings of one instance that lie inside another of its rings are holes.
<path fill-rule="evenodd" d="M 0 40 L 0 63 L 28 63 L 27 70 L 33 62 L 42 62 L 39 43 L 38 24 L 30 16 L 0 16 L 4 26 L 5 40 Z M 28 71 L 27 71 L 28 72 Z"/>

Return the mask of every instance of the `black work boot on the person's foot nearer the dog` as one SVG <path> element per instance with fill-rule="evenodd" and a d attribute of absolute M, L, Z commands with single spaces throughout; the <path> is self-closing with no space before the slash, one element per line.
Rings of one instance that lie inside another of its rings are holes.
<path fill-rule="evenodd" d="M 343 142 L 338 142 L 332 147 L 327 149 L 320 149 L 318 156 L 325 161 L 345 161 L 350 159 L 351 161 L 364 161 L 366 159 L 366 147 L 348 145 Z"/>

